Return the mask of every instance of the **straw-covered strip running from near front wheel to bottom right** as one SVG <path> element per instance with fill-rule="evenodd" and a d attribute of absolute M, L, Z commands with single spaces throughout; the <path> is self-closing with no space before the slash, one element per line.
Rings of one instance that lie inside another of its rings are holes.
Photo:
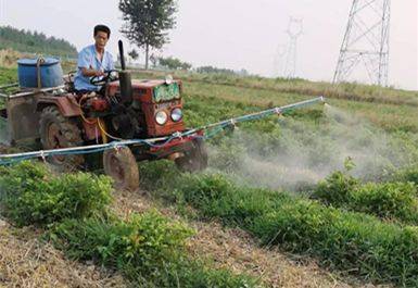
<path fill-rule="evenodd" d="M 144 193 L 117 192 L 114 209 L 121 216 L 155 208 L 163 214 L 181 220 L 174 209 L 157 206 Z M 269 287 L 375 287 L 349 285 L 318 267 L 314 261 L 297 263 L 278 250 L 259 248 L 256 240 L 241 229 L 224 228 L 217 223 L 188 223 L 197 229 L 189 241 L 190 253 L 210 259 L 217 267 L 259 277 Z"/>

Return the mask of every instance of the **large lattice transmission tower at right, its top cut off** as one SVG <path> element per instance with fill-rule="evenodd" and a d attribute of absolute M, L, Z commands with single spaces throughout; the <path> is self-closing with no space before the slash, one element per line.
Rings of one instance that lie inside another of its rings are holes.
<path fill-rule="evenodd" d="M 352 74 L 388 86 L 391 0 L 353 0 L 333 83 Z"/>

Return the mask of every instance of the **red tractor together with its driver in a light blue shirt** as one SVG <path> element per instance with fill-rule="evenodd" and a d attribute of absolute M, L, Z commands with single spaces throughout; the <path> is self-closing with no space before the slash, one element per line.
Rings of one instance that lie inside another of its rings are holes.
<path fill-rule="evenodd" d="M 101 154 L 98 166 L 121 189 L 139 187 L 138 161 L 167 159 L 182 171 L 204 170 L 207 152 L 203 130 L 186 127 L 181 80 L 131 79 L 121 40 L 121 68 L 115 71 L 112 55 L 105 51 L 110 35 L 109 27 L 94 27 L 94 43 L 79 52 L 77 74 L 74 80 L 66 78 L 63 89 L 34 89 L 28 96 L 34 107 L 20 102 L 9 105 L 13 110 L 3 113 L 16 118 L 36 111 L 24 125 L 31 125 L 25 134 L 18 122 L 16 132 L 21 134 L 14 134 L 20 136 L 16 138 L 40 139 L 42 151 L 71 149 L 68 154 L 56 152 L 47 158 L 59 171 L 96 167 L 98 163 L 92 160 L 97 159 L 92 158 Z M 87 150 L 73 150 L 96 145 L 101 148 L 92 156 L 86 155 Z"/>

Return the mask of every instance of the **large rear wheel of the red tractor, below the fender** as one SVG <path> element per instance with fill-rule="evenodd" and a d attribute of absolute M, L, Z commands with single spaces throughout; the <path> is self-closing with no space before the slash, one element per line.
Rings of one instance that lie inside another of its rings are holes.
<path fill-rule="evenodd" d="M 45 150 L 83 146 L 81 130 L 74 118 L 65 117 L 56 107 L 42 110 L 39 121 L 40 141 Z M 74 171 L 83 166 L 83 155 L 53 155 L 47 161 L 61 172 Z"/>

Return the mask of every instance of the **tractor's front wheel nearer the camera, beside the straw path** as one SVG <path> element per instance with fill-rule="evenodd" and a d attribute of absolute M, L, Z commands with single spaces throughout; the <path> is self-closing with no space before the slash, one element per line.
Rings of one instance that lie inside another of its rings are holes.
<path fill-rule="evenodd" d="M 103 167 L 105 174 L 113 178 L 116 189 L 135 191 L 139 188 L 138 164 L 129 148 L 104 151 Z"/>

